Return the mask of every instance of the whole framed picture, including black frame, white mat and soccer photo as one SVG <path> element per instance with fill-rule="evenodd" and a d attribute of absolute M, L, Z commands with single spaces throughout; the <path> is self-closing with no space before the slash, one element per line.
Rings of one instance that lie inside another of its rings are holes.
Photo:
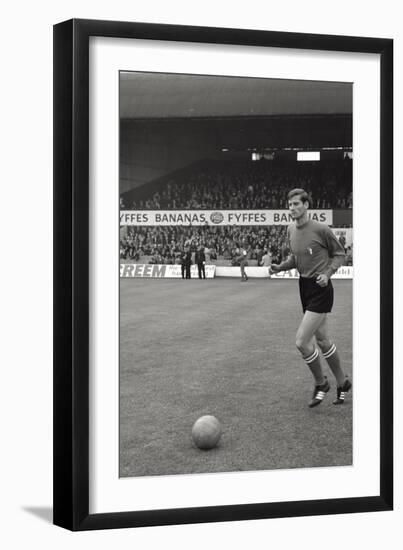
<path fill-rule="evenodd" d="M 54 52 L 54 523 L 390 510 L 392 41 L 80 19 Z"/>

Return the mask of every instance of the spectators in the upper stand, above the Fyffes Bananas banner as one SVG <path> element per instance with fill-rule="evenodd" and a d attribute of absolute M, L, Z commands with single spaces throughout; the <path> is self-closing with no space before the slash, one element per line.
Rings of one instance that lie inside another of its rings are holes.
<path fill-rule="evenodd" d="M 134 189 L 122 197 L 121 208 L 283 209 L 292 187 L 310 193 L 312 208 L 352 208 L 351 167 L 351 160 L 205 166 L 164 182 L 149 194 L 144 186 Z"/>

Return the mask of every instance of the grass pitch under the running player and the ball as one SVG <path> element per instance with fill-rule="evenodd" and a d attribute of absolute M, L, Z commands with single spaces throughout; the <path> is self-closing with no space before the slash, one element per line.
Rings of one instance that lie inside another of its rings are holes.
<path fill-rule="evenodd" d="M 352 375 L 352 281 L 335 280 L 329 315 Z M 120 475 L 252 471 L 352 463 L 352 395 L 336 382 L 309 409 L 313 382 L 295 348 L 296 280 L 120 281 Z M 193 423 L 216 416 L 218 446 L 200 451 Z"/>

